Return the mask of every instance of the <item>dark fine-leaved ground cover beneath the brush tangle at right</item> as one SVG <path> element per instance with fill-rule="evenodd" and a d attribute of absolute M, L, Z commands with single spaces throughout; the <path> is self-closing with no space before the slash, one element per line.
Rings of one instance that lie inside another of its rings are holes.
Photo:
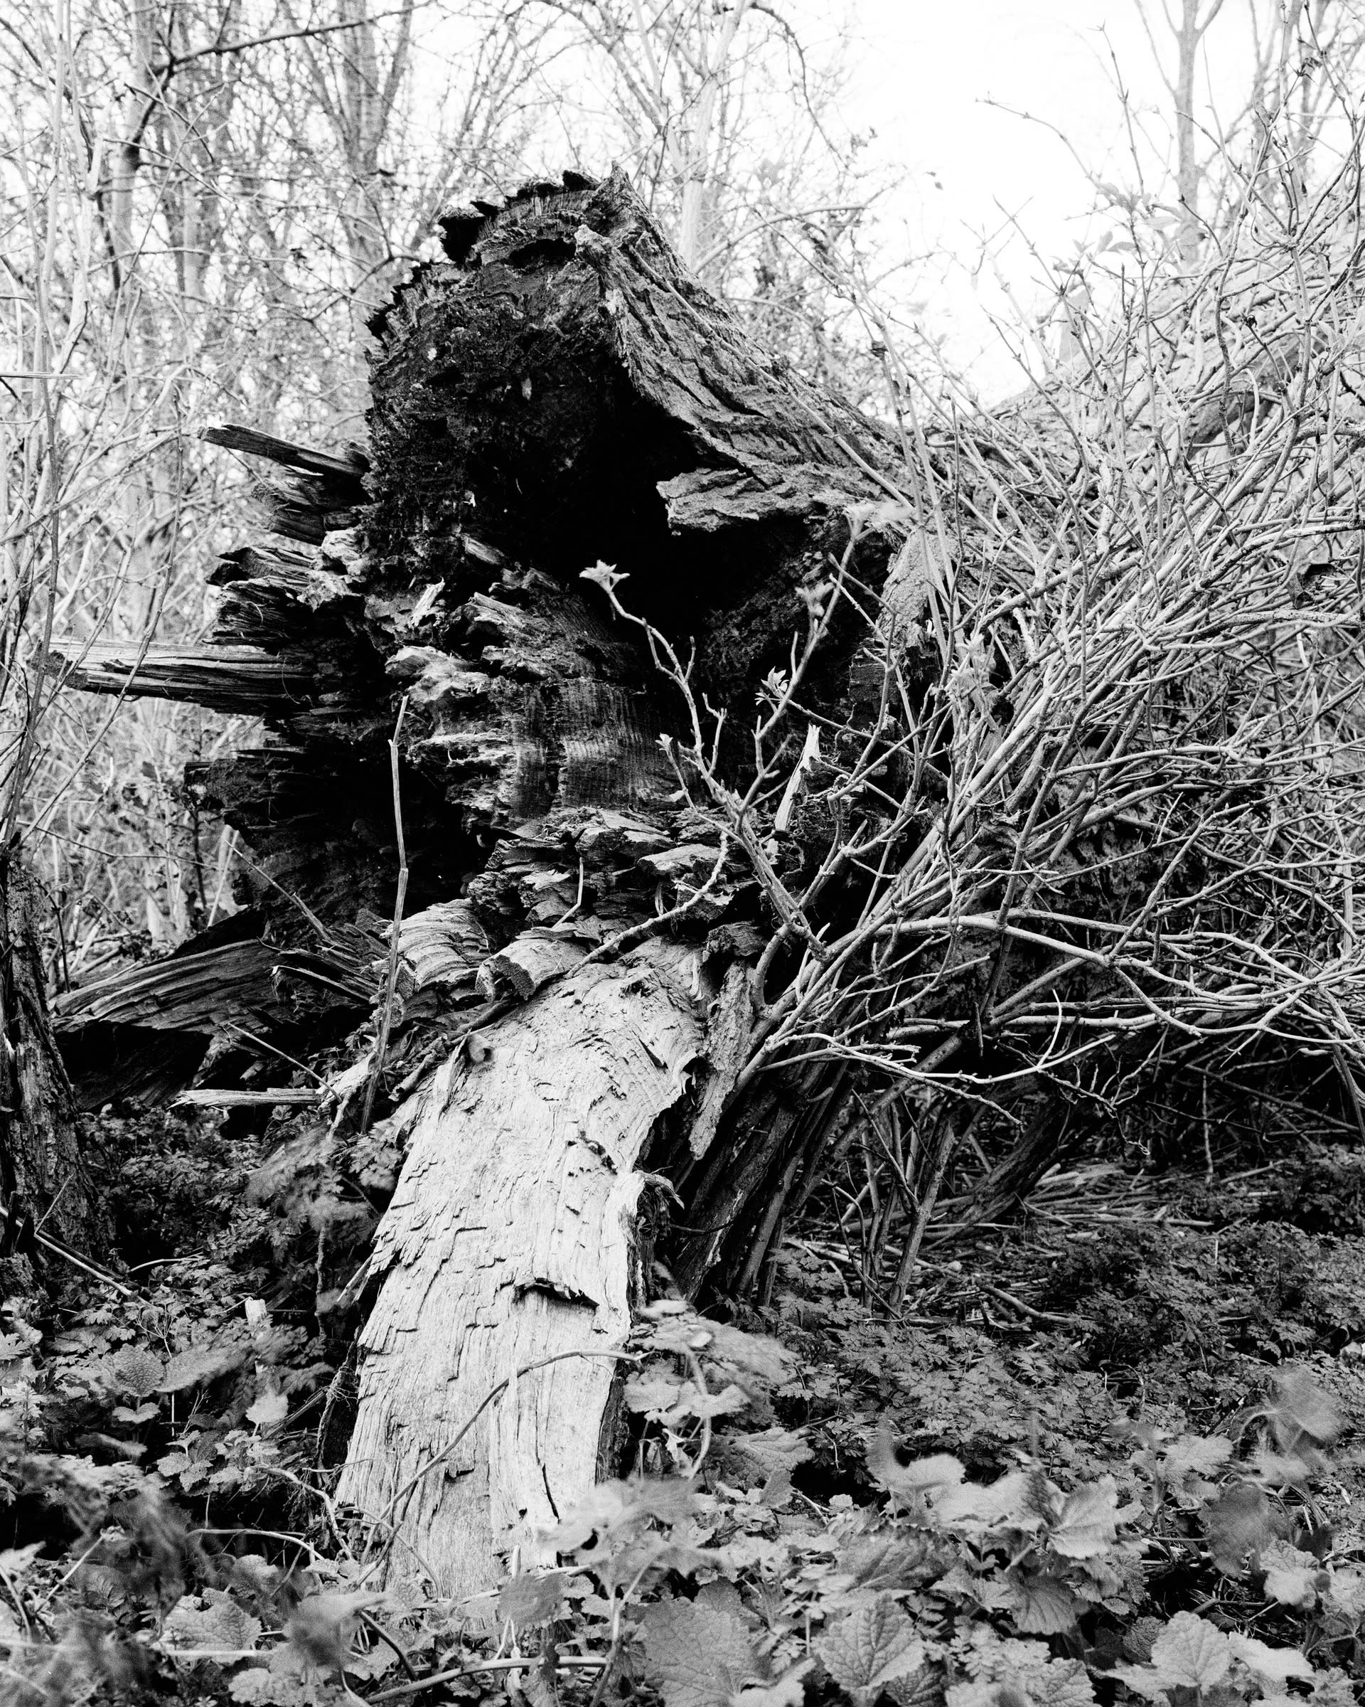
<path fill-rule="evenodd" d="M 1015 1222 L 932 1232 L 926 1284 L 899 1314 L 857 1248 L 810 1231 L 788 1241 L 761 1314 L 800 1357 L 802 1420 L 831 1475 L 841 1437 L 879 1417 L 973 1477 L 1025 1453 L 1049 1475 L 1092 1475 L 1126 1459 L 1130 1424 L 1210 1434 L 1293 1364 L 1358 1419 L 1334 1468 L 1343 1504 L 1365 1492 L 1358 1151 L 1316 1145 L 1222 1178 L 1053 1169 Z"/>

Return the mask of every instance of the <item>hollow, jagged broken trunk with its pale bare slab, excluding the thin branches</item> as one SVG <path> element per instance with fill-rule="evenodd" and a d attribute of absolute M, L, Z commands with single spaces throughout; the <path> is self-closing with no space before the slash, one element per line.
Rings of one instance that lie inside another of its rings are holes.
<path fill-rule="evenodd" d="M 392 1569 L 461 1594 L 597 1470 L 599 1354 L 648 1287 L 647 1176 L 682 1203 L 679 1284 L 720 1265 L 752 1285 L 845 1089 L 817 1063 L 735 1096 L 773 927 L 741 850 L 676 792 L 659 746 L 676 690 L 582 572 L 630 575 L 626 604 L 694 644 L 698 695 L 742 729 L 848 550 L 848 509 L 884 500 L 887 451 L 747 343 L 621 178 L 531 186 L 444 232 L 447 259 L 374 323 L 363 457 L 206 435 L 270 464 L 276 534 L 224 560 L 218 645 L 67 667 L 268 720 L 198 787 L 253 847 L 268 953 L 302 951 L 288 893 L 353 968 L 355 934 L 392 910 L 404 707 L 403 980 L 394 995 L 372 968 L 387 1058 L 350 1075 L 336 1118 L 355 1123 L 377 1074 L 406 1159 L 353 1289 L 370 1318 L 338 1494 L 392 1540 Z M 862 584 L 889 551 L 868 527 Z M 742 770 L 742 743 L 725 763 Z M 340 983 L 355 999 L 363 980 Z M 544 1359 L 442 1456 L 495 1383 Z"/>

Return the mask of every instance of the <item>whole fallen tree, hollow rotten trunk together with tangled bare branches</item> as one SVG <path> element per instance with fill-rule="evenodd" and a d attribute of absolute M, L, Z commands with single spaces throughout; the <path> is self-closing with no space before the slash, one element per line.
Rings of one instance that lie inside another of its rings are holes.
<path fill-rule="evenodd" d="M 850 1157 L 894 1306 L 954 1174 L 990 1219 L 1097 1128 L 1358 1120 L 1358 259 L 1334 205 L 1242 234 L 887 434 L 621 179 L 444 230 L 363 461 L 210 432 L 282 534 L 218 644 L 67 667 L 268 720 L 195 785 L 329 1081 L 278 1154 L 396 1174 L 319 1299 L 369 1313 L 338 1497 L 469 1593 L 614 1456 L 631 1308 L 766 1296 Z M 150 1029 L 166 976 L 203 1024 L 193 958 L 72 1007 Z"/>

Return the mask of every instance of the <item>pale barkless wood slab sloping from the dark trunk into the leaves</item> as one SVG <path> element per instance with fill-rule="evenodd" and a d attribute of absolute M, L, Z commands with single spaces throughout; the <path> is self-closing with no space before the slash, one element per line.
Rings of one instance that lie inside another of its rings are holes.
<path fill-rule="evenodd" d="M 380 1222 L 379 1301 L 362 1338 L 360 1410 L 338 1499 L 384 1519 L 391 1576 L 439 1594 L 495 1582 L 524 1523 L 590 1487 L 636 1289 L 635 1173 L 703 1046 L 696 959 L 648 944 L 572 971 L 483 1033 L 425 1091 Z M 442 1459 L 437 1463 L 437 1459 Z M 432 1465 L 430 1473 L 421 1475 Z"/>

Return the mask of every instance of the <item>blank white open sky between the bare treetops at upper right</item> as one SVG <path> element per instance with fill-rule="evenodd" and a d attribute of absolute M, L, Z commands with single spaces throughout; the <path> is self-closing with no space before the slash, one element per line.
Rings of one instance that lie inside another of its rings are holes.
<path fill-rule="evenodd" d="M 802 10 L 816 22 L 826 5 L 804 0 Z M 940 282 L 926 275 L 923 318 L 995 391 L 1012 374 L 988 321 L 1010 314 L 1000 280 L 1029 311 L 1043 300 L 1024 237 L 1051 259 L 1099 236 L 1085 169 L 1135 186 L 1116 63 L 1145 131 L 1147 171 L 1165 155 L 1172 102 L 1136 0 L 853 0 L 851 15 L 860 44 L 846 118 L 875 125 L 886 157 L 909 169 L 901 213 L 916 248 L 954 258 Z M 1210 114 L 1230 116 L 1247 89 L 1246 19 L 1246 0 L 1227 0 L 1206 38 L 1199 94 Z M 1012 220 L 1024 236 L 1010 236 Z M 983 241 L 993 265 L 978 265 Z"/>

